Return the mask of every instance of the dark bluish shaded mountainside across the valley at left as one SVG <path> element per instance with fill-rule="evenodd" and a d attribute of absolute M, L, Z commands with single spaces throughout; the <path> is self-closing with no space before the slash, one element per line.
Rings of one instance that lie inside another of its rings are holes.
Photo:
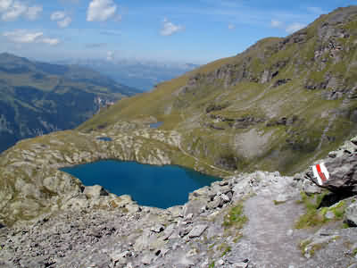
<path fill-rule="evenodd" d="M 74 65 L 0 54 L 0 66 L 0 151 L 21 138 L 75 128 L 106 102 L 137 93 Z"/>

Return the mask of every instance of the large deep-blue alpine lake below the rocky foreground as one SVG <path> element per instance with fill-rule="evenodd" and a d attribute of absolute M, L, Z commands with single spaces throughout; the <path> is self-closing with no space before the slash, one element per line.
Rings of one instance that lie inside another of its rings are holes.
<path fill-rule="evenodd" d="M 139 205 L 160 208 L 183 205 L 188 193 L 220 180 L 176 165 L 155 166 L 116 160 L 61 170 L 79 178 L 86 186 L 99 184 L 117 196 L 130 195 Z"/>

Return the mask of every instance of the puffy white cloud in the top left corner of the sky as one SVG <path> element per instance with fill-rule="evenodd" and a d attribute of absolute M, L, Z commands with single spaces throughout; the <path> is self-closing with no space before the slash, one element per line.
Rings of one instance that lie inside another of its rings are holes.
<path fill-rule="evenodd" d="M 29 6 L 18 0 L 0 0 L 0 13 L 3 21 L 15 21 L 21 16 L 33 21 L 42 10 L 40 5 Z"/>

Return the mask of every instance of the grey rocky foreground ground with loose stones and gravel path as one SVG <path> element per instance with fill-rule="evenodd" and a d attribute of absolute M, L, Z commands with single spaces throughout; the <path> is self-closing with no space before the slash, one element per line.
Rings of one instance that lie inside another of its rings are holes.
<path fill-rule="evenodd" d="M 356 148 L 348 142 L 326 161 L 355 157 Z M 352 167 L 345 164 L 341 177 L 353 178 Z M 33 225 L 2 226 L 0 266 L 357 267 L 353 192 L 326 194 L 308 174 L 240 174 L 166 210 L 87 187 L 81 205 Z M 100 202 L 109 197 L 110 205 Z M 311 210 L 307 200 L 319 207 Z"/>

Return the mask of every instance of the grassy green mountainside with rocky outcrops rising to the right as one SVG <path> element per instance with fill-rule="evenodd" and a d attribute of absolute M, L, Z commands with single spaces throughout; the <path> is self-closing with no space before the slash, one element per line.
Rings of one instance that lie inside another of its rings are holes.
<path fill-rule="evenodd" d="M 154 117 L 221 169 L 300 171 L 357 131 L 356 23 L 357 6 L 339 8 L 124 99 L 79 130 Z"/>

